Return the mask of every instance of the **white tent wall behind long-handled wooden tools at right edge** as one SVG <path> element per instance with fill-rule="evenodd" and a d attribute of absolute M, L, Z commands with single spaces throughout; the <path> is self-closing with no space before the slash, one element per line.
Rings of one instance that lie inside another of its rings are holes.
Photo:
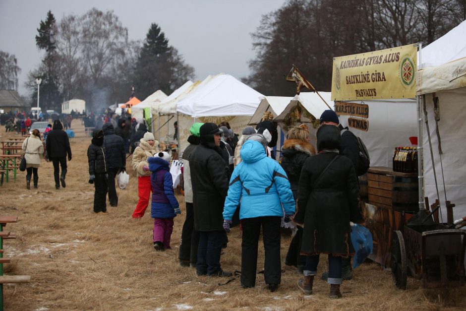
<path fill-rule="evenodd" d="M 425 107 L 429 124 L 430 137 L 432 142 L 432 152 L 437 174 L 437 183 L 441 202 L 443 221 L 447 221 L 445 210 L 445 182 L 446 197 L 456 204 L 453 208 L 454 219 L 466 216 L 466 87 L 441 91 L 435 93 L 439 98 L 440 121 L 438 122 L 440 132 L 440 142 L 443 154 L 439 155 L 438 138 L 436 133 L 436 123 L 434 119 L 434 108 L 432 94 L 425 95 Z M 427 129 L 424 130 L 424 191 L 429 202 L 435 202 L 437 191 L 435 187 L 434 171 Z M 443 166 L 443 177 L 442 177 Z"/>

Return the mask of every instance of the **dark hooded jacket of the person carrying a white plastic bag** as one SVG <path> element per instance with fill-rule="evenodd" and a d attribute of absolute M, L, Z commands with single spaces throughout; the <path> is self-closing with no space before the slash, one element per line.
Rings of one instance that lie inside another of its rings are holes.
<path fill-rule="evenodd" d="M 124 141 L 115 135 L 111 123 L 102 126 L 104 131 L 104 149 L 107 160 L 107 169 L 119 169 L 126 166 L 126 153 L 124 152 Z"/>

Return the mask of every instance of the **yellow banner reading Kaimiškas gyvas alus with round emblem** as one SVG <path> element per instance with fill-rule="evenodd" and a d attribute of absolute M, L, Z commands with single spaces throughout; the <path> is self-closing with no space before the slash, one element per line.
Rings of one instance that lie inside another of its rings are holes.
<path fill-rule="evenodd" d="M 417 45 L 333 59 L 332 100 L 413 98 Z"/>

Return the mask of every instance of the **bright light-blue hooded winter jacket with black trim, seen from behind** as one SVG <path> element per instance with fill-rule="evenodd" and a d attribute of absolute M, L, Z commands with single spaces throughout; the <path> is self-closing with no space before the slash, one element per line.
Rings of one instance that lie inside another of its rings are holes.
<path fill-rule="evenodd" d="M 268 158 L 258 141 L 247 140 L 240 151 L 242 162 L 234 168 L 223 210 L 231 220 L 241 200 L 239 219 L 284 216 L 294 213 L 294 199 L 287 174 L 280 164 Z"/>

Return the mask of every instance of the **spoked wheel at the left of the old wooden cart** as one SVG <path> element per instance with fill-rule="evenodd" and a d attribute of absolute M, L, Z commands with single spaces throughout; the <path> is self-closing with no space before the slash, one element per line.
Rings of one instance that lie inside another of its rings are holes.
<path fill-rule="evenodd" d="M 406 261 L 405 240 L 401 231 L 395 231 L 391 248 L 392 272 L 395 278 L 395 285 L 399 289 L 406 289 L 408 265 Z"/>

